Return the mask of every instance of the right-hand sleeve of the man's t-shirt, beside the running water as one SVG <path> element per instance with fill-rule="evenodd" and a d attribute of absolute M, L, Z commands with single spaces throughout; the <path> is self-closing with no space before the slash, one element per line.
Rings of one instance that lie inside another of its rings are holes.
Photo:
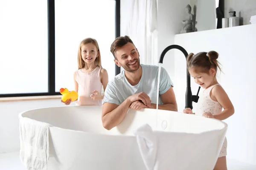
<path fill-rule="evenodd" d="M 159 94 L 161 95 L 166 93 L 166 91 L 168 91 L 171 86 L 173 87 L 172 80 L 169 77 L 169 74 L 167 73 L 166 69 L 162 67 L 160 74 Z"/>

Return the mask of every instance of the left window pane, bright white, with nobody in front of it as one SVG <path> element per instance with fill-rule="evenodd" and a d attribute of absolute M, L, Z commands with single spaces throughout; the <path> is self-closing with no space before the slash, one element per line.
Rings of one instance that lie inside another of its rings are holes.
<path fill-rule="evenodd" d="M 47 1 L 0 1 L 0 94 L 48 91 L 47 31 Z"/>

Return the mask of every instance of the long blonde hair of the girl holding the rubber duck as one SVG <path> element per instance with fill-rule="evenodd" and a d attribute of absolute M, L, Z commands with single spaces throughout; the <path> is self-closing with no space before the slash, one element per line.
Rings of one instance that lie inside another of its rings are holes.
<path fill-rule="evenodd" d="M 95 62 L 96 66 L 102 68 L 98 42 L 93 38 L 86 38 L 80 42 L 80 45 L 78 48 L 78 54 L 77 54 L 78 69 L 84 68 L 84 66 L 85 66 L 84 60 L 82 59 L 82 56 L 81 56 L 81 47 L 82 47 L 82 45 L 86 45 L 89 43 L 92 43 L 93 45 L 96 46 L 96 49 L 99 52 L 99 56 L 96 57 L 94 62 Z"/>

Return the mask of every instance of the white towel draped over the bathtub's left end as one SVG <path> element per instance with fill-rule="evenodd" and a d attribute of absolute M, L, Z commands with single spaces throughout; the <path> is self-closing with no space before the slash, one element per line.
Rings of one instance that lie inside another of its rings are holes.
<path fill-rule="evenodd" d="M 49 124 L 27 117 L 20 119 L 20 160 L 26 170 L 47 170 Z"/>

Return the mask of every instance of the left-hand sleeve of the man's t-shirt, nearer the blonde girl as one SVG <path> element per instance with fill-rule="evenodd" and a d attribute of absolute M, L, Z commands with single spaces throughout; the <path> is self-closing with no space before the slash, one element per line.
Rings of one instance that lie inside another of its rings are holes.
<path fill-rule="evenodd" d="M 105 102 L 113 103 L 116 105 L 121 104 L 118 97 L 116 96 L 116 90 L 113 88 L 113 85 L 111 83 L 108 83 L 104 92 L 102 104 L 104 104 Z"/>

